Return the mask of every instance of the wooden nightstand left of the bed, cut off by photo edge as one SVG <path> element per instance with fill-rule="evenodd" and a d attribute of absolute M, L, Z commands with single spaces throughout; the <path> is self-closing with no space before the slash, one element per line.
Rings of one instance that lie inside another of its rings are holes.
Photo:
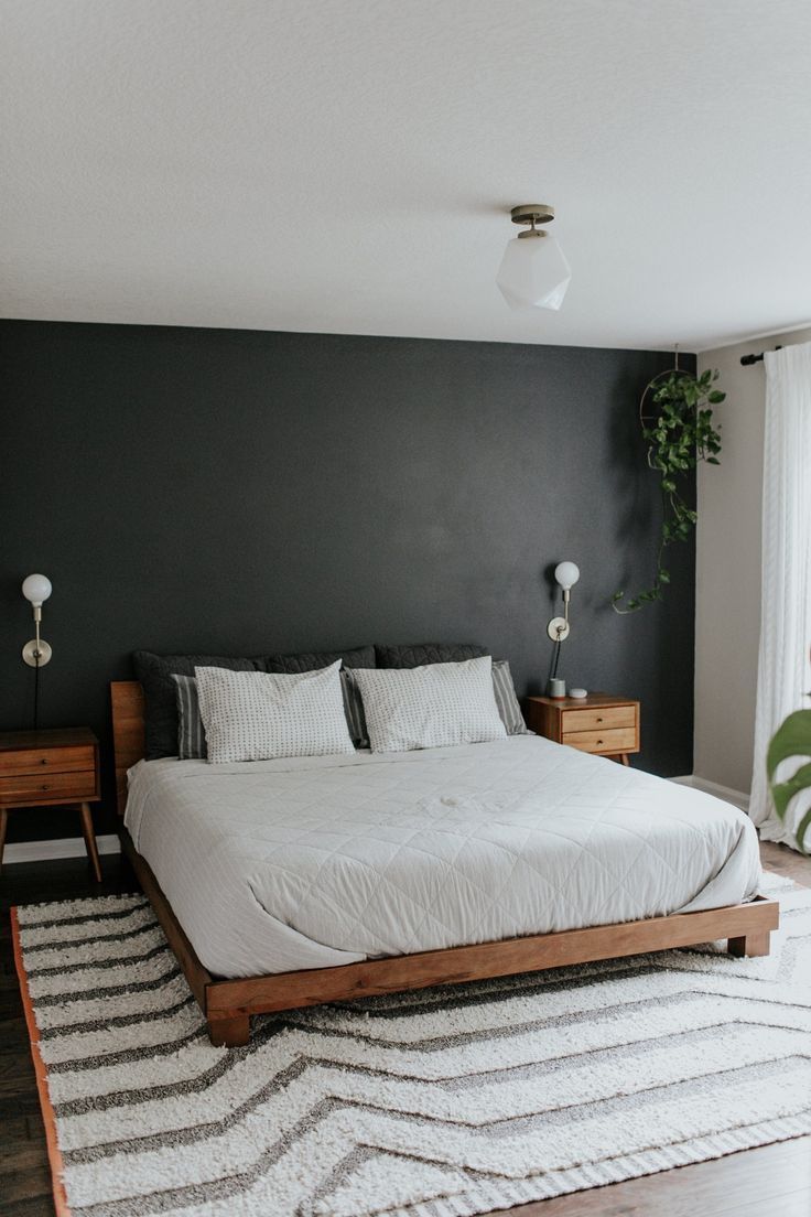
<path fill-rule="evenodd" d="M 0 867 L 12 807 L 79 806 L 81 834 L 101 882 L 90 803 L 98 789 L 98 740 L 86 727 L 56 731 L 0 731 Z"/>

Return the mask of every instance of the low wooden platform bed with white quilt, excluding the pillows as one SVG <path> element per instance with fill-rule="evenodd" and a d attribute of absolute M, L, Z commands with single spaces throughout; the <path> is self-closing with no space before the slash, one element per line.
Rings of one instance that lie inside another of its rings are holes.
<path fill-rule="evenodd" d="M 719 938 L 768 953 L 754 828 L 700 791 L 536 736 L 146 762 L 141 686 L 112 705 L 123 847 L 213 1043 L 396 989 Z"/>

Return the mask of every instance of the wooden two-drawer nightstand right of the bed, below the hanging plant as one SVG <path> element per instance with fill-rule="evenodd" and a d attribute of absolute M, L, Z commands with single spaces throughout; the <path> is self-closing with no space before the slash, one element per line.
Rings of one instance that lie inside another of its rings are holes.
<path fill-rule="evenodd" d="M 627 697 L 590 692 L 587 697 L 528 697 L 524 717 L 530 731 L 556 744 L 629 763 L 640 751 L 640 703 Z"/>

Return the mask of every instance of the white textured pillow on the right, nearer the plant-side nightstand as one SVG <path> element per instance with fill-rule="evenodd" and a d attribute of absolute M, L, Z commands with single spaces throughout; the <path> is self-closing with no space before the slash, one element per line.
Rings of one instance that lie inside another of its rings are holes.
<path fill-rule="evenodd" d="M 492 660 L 421 668 L 355 668 L 372 752 L 410 752 L 506 736 Z"/>

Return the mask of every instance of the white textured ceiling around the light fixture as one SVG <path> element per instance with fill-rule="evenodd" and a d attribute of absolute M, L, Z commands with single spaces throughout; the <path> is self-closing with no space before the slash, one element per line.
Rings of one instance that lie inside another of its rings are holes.
<path fill-rule="evenodd" d="M 807 0 L 1 0 L 5 316 L 708 348 L 811 319 Z M 508 208 L 573 279 L 512 313 Z"/>

